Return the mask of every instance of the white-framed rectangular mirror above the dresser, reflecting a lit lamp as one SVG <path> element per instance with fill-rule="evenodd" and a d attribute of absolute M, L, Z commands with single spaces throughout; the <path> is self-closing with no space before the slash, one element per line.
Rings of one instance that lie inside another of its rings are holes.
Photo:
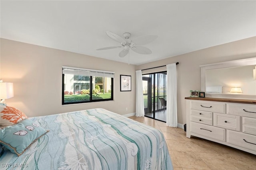
<path fill-rule="evenodd" d="M 206 97 L 256 99 L 256 57 L 200 67 Z"/>

